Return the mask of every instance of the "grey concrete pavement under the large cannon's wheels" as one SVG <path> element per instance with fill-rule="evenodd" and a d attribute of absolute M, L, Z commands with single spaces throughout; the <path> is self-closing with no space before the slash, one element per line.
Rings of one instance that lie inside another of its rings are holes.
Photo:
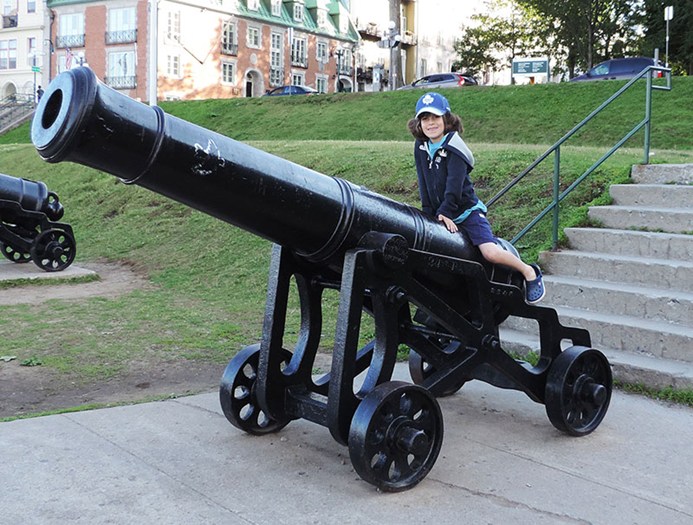
<path fill-rule="evenodd" d="M 326 428 L 251 436 L 216 392 L 0 423 L 0 522 L 693 524 L 690 408 L 616 391 L 574 438 L 520 392 L 475 381 L 440 403 L 441 454 L 396 494 L 362 481 Z"/>

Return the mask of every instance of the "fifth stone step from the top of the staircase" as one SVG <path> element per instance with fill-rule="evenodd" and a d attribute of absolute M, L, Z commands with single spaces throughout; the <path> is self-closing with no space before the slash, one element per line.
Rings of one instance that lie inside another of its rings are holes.
<path fill-rule="evenodd" d="M 562 250 L 542 252 L 540 266 L 551 275 L 625 282 L 693 293 L 693 262 Z"/>

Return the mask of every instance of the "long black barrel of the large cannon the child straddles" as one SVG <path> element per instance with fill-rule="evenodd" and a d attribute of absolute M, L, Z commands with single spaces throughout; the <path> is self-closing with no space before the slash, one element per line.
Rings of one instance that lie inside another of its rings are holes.
<path fill-rule="evenodd" d="M 481 258 L 464 236 L 411 206 L 137 102 L 88 68 L 51 82 L 31 137 L 48 162 L 105 171 L 313 262 L 339 260 L 371 231 L 398 234 L 418 250 Z"/>

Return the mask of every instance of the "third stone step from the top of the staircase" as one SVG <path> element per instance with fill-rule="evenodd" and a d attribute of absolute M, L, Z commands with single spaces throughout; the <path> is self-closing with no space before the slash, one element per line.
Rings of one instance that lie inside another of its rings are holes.
<path fill-rule="evenodd" d="M 607 228 L 693 232 L 693 208 L 590 206 L 588 217 Z"/>

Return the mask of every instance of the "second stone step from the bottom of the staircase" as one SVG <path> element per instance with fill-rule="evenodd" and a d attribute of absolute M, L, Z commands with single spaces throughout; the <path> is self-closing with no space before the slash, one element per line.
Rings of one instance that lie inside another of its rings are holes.
<path fill-rule="evenodd" d="M 589 331 L 594 348 L 610 348 L 649 357 L 693 364 L 693 330 L 690 326 L 652 321 L 626 315 L 556 307 L 561 324 Z M 532 319 L 509 317 L 503 326 L 538 333 Z"/>

